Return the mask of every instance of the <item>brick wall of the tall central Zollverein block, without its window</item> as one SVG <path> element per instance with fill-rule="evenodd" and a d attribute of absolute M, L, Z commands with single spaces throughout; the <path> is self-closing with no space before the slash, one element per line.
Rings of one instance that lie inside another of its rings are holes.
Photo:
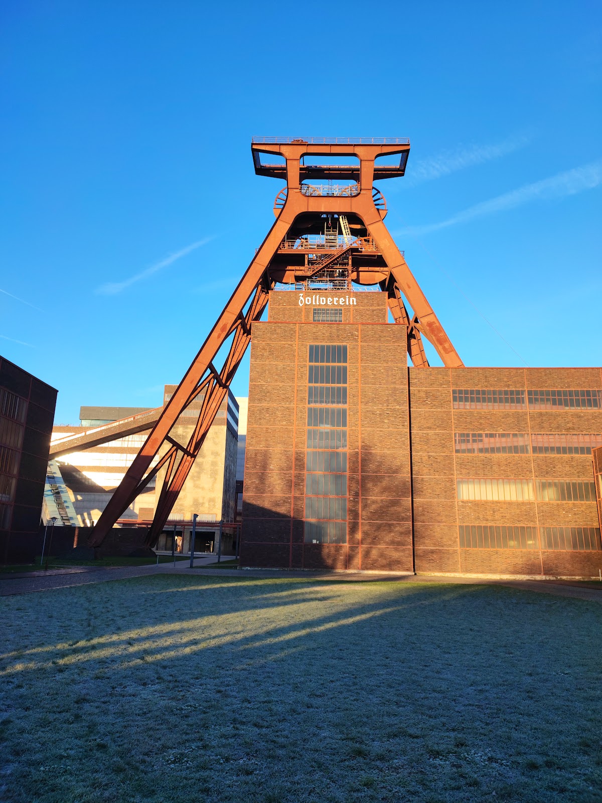
<path fill-rule="evenodd" d="M 304 323 L 312 307 L 299 307 L 298 295 L 271 293 L 268 323 L 254 324 L 242 565 L 411 572 L 405 328 L 385 323 L 384 293 L 354 294 L 343 324 Z M 311 343 L 348 346 L 347 544 L 303 543 Z M 389 364 L 392 355 L 400 359 Z"/>

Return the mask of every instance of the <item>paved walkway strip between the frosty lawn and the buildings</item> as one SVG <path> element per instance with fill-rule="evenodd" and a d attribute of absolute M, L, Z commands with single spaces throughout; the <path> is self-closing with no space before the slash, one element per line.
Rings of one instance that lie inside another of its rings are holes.
<path fill-rule="evenodd" d="M 322 572 L 295 571 L 280 569 L 218 569 L 211 568 L 217 562 L 214 555 L 195 558 L 193 573 L 195 577 L 298 577 L 304 580 L 375 582 L 393 581 L 403 583 L 449 583 L 462 585 L 506 585 L 523 591 L 555 594 L 558 597 L 573 597 L 588 601 L 602 602 L 602 584 L 567 580 L 501 580 L 481 577 L 446 577 L 441 575 L 413 575 L 372 572 Z M 228 560 L 225 556 L 224 560 Z M 231 560 L 231 559 L 230 559 Z M 51 569 L 47 572 L 5 575 L 0 579 L 0 597 L 14 594 L 33 593 L 64 589 L 73 585 L 88 585 L 109 580 L 128 580 L 130 577 L 145 577 L 149 574 L 191 574 L 188 560 L 172 563 L 132 567 L 81 566 L 71 569 Z"/>

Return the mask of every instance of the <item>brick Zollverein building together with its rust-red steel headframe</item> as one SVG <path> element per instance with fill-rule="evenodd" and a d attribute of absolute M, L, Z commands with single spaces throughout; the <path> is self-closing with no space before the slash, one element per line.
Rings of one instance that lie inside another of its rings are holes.
<path fill-rule="evenodd" d="M 255 173 L 285 182 L 274 225 L 92 546 L 155 465 L 146 543 L 160 542 L 250 346 L 241 565 L 598 576 L 602 372 L 464 365 L 384 224 L 380 182 L 405 175 L 409 149 L 400 137 L 254 137 Z M 184 443 L 174 422 L 199 394 Z"/>

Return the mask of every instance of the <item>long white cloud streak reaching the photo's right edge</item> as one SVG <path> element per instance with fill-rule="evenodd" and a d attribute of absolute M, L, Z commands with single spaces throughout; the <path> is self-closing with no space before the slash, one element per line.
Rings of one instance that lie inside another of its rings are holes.
<path fill-rule="evenodd" d="M 576 195 L 584 190 L 592 190 L 600 184 L 602 184 L 602 159 L 566 170 L 564 173 L 558 173 L 550 178 L 544 178 L 543 181 L 526 184 L 519 187 L 518 190 L 498 195 L 496 198 L 475 204 L 475 206 L 469 206 L 468 209 L 454 214 L 447 220 L 429 223 L 426 226 L 406 226 L 395 234 L 415 234 L 417 236 L 429 234 L 431 231 L 456 226 L 458 223 L 466 223 L 474 218 L 484 218 L 488 214 L 515 209 L 516 206 L 523 206 L 531 201 L 550 201 L 554 198 L 564 198 L 566 195 Z"/>

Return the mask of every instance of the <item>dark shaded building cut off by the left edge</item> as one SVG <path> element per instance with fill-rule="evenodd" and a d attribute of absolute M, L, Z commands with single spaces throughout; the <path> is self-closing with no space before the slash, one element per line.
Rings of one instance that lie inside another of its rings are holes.
<path fill-rule="evenodd" d="M 0 357 L 0 563 L 31 560 L 39 539 L 55 388 Z"/>

